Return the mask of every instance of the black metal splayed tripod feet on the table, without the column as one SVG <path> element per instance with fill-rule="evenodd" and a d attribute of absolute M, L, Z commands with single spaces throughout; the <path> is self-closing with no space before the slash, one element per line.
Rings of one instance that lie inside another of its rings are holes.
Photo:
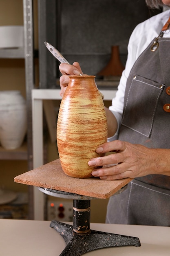
<path fill-rule="evenodd" d="M 79 256 L 86 252 L 106 247 L 141 246 L 139 238 L 132 236 L 122 236 L 95 230 L 90 230 L 85 234 L 78 234 L 73 231 L 72 225 L 55 220 L 51 221 L 50 227 L 59 232 L 65 240 L 66 247 L 60 256 Z"/>

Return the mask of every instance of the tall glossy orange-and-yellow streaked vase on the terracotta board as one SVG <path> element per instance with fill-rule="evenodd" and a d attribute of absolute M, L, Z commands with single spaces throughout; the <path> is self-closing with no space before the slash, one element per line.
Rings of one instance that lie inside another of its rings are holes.
<path fill-rule="evenodd" d="M 92 177 L 88 160 L 102 156 L 97 146 L 107 141 L 104 103 L 95 76 L 69 76 L 57 119 L 57 147 L 64 173 Z"/>

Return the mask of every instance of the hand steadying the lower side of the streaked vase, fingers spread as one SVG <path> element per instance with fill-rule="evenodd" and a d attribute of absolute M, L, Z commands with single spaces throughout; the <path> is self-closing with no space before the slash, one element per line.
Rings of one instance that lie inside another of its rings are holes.
<path fill-rule="evenodd" d="M 156 151 L 154 150 L 156 149 L 120 140 L 106 142 L 100 145 L 96 152 L 113 151 L 115 154 L 93 158 L 88 162 L 88 165 L 92 167 L 104 166 L 92 171 L 93 176 L 100 177 L 102 180 L 142 177 L 155 173 Z"/>

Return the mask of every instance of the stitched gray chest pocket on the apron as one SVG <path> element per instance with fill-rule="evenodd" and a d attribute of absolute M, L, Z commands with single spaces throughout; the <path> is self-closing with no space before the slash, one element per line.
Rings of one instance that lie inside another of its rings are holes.
<path fill-rule="evenodd" d="M 135 75 L 125 103 L 122 125 L 150 137 L 155 111 L 164 85 Z"/>

